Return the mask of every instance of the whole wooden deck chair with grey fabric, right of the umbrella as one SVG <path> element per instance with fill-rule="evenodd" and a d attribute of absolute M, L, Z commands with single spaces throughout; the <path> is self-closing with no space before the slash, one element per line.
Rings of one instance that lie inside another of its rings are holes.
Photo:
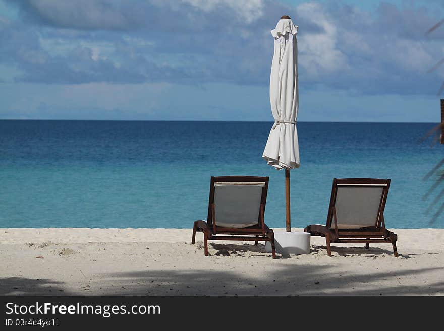
<path fill-rule="evenodd" d="M 398 236 L 385 228 L 384 208 L 390 179 L 333 179 L 327 224 L 308 225 L 304 231 L 325 237 L 327 253 L 330 243 L 391 243 L 398 257 Z"/>

